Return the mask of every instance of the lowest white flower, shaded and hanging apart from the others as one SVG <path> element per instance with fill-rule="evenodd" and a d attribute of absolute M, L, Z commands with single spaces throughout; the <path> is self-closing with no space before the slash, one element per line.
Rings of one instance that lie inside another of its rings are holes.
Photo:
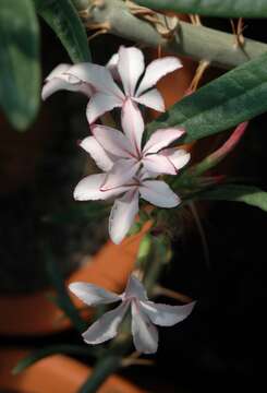
<path fill-rule="evenodd" d="M 195 301 L 185 306 L 167 306 L 149 301 L 143 284 L 133 274 L 129 278 L 125 291 L 121 295 L 87 283 L 72 283 L 69 288 L 88 306 L 121 301 L 119 307 L 106 312 L 83 333 L 83 338 L 87 344 L 100 344 L 113 338 L 118 333 L 119 324 L 131 307 L 134 346 L 144 354 L 157 352 L 158 331 L 155 324 L 171 326 L 179 323 L 191 313 L 195 306 Z"/>

